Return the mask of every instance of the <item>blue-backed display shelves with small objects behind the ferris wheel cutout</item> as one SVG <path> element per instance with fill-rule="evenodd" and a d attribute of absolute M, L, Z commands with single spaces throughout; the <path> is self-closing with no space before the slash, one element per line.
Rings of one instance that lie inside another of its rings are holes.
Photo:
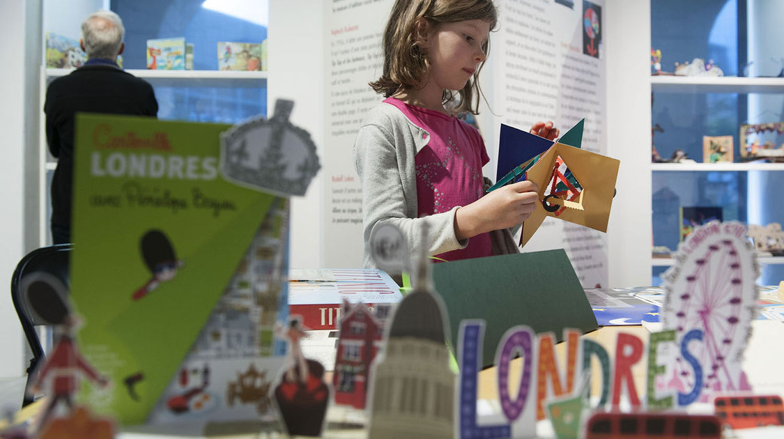
<path fill-rule="evenodd" d="M 781 203 L 771 198 L 784 183 L 777 130 L 784 121 L 784 60 L 771 45 L 781 31 L 760 18 L 781 11 L 775 2 L 651 2 L 654 285 L 672 265 L 668 256 L 684 229 L 700 223 L 684 217 L 684 209 L 718 212 L 702 220 L 784 220 Z M 750 126 L 763 126 L 764 138 L 746 139 Z M 784 278 L 784 258 L 763 255 L 758 262 L 760 282 Z"/>

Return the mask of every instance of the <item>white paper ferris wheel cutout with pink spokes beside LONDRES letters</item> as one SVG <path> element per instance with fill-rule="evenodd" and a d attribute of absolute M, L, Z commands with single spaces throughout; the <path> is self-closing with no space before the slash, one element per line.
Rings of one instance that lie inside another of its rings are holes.
<path fill-rule="evenodd" d="M 746 388 L 740 364 L 757 303 L 753 249 L 745 235 L 724 234 L 722 226 L 713 222 L 694 239 L 690 235 L 679 250 L 679 267 L 665 274 L 664 327 L 676 331 L 676 346 L 687 339 L 693 356 L 677 355 L 667 387 L 683 394 L 699 386 L 701 401 L 714 391 Z M 694 329 L 702 331 L 702 339 Z"/>

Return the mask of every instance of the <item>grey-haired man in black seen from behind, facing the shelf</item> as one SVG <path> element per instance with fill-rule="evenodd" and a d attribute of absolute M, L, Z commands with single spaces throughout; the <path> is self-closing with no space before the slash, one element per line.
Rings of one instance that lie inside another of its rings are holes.
<path fill-rule="evenodd" d="M 82 67 L 56 78 L 46 90 L 46 140 L 57 158 L 52 179 L 52 238 L 71 242 L 71 191 L 74 172 L 74 114 L 158 114 L 152 86 L 123 71 L 117 57 L 125 49 L 125 27 L 111 11 L 97 11 L 82 23 L 79 45 L 87 53 Z"/>

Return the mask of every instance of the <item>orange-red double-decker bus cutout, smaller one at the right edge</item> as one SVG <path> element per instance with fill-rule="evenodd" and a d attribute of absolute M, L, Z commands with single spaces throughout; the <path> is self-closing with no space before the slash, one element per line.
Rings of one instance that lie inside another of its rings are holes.
<path fill-rule="evenodd" d="M 713 406 L 721 422 L 734 429 L 784 425 L 784 404 L 778 395 L 716 397 Z"/>

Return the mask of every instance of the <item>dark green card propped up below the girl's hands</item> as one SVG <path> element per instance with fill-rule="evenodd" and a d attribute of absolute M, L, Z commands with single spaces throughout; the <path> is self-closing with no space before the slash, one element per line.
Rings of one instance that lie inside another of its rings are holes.
<path fill-rule="evenodd" d="M 485 320 L 484 367 L 493 365 L 499 341 L 515 325 L 554 332 L 558 341 L 564 328 L 598 328 L 563 249 L 434 263 L 433 281 L 448 310 L 452 340 L 460 321 Z"/>

